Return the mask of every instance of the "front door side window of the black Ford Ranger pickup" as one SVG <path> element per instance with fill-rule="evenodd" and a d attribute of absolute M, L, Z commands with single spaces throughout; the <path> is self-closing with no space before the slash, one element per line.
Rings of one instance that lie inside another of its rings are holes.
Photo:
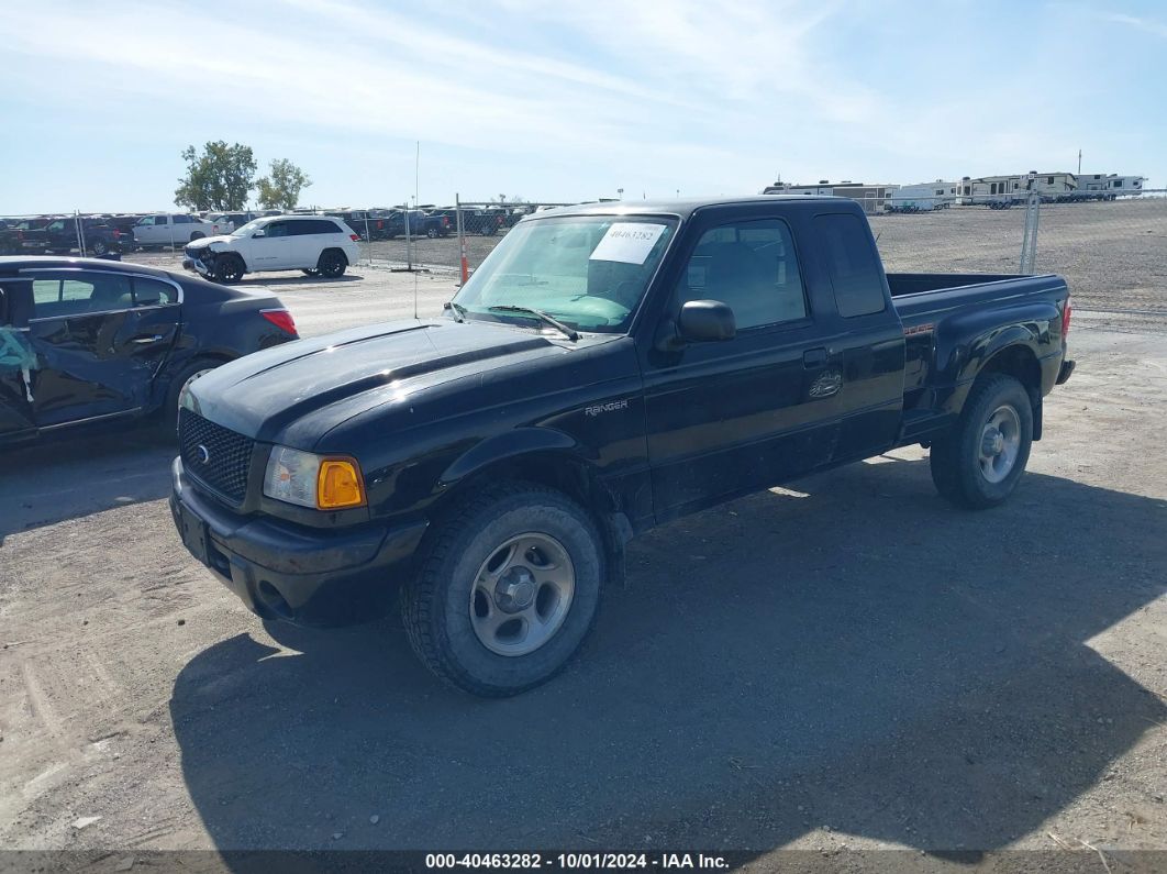
<path fill-rule="evenodd" d="M 790 228 L 781 219 L 736 222 L 701 235 L 677 289 L 677 303 L 719 300 L 738 329 L 806 316 Z"/>

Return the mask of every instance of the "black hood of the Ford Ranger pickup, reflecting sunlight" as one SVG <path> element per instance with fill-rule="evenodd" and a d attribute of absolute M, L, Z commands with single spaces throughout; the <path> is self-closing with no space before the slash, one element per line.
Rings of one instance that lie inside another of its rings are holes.
<path fill-rule="evenodd" d="M 504 324 L 387 322 L 224 364 L 193 383 L 183 403 L 246 436 L 310 450 L 328 431 L 376 406 L 407 403 L 520 361 L 571 354 L 546 336 Z"/>

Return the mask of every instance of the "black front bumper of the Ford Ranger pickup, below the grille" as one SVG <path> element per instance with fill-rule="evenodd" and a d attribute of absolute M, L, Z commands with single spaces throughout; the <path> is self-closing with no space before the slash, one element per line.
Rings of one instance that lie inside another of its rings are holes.
<path fill-rule="evenodd" d="M 265 620 L 343 625 L 384 615 L 427 523 L 309 529 L 235 513 L 172 468 L 170 515 L 187 550 Z"/>

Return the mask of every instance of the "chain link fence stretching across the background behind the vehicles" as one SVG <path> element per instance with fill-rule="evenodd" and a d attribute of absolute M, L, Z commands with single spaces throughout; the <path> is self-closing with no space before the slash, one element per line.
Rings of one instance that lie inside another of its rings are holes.
<path fill-rule="evenodd" d="M 1061 273 L 1079 308 L 1167 315 L 1167 189 L 1113 200 L 1032 201 L 892 194 L 860 203 L 889 271 Z M 359 235 L 356 267 L 420 270 L 457 281 L 523 217 L 561 205 L 567 204 L 459 200 L 448 207 L 315 212 L 341 218 Z M 160 258 L 135 247 L 135 219 L 130 214 L 79 212 L 4 217 L 0 254 Z M 170 256 L 173 265 L 159 266 L 177 267 L 181 245 Z"/>

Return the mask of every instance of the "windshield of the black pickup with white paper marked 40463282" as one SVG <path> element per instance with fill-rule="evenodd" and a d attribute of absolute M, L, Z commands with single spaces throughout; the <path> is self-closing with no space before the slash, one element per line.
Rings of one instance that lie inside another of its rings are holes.
<path fill-rule="evenodd" d="M 529 321 L 525 307 L 584 331 L 623 333 L 676 231 L 672 218 L 564 216 L 523 222 L 454 298 L 468 319 Z"/>

